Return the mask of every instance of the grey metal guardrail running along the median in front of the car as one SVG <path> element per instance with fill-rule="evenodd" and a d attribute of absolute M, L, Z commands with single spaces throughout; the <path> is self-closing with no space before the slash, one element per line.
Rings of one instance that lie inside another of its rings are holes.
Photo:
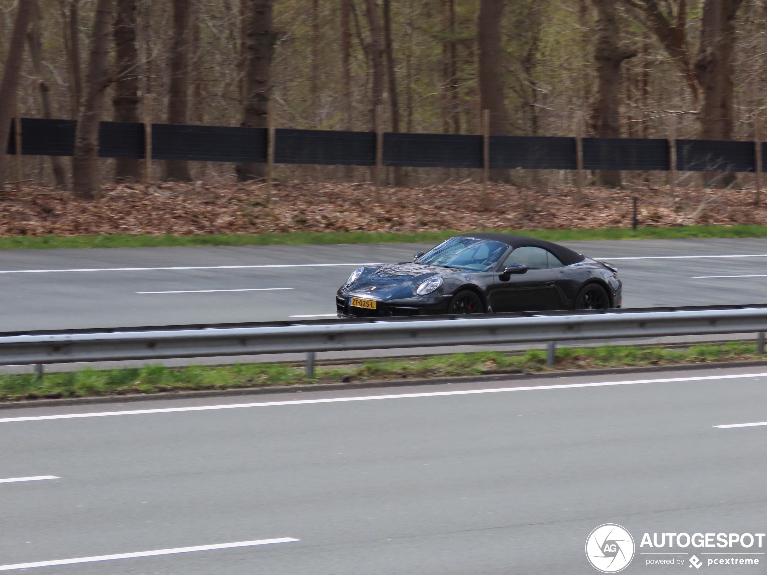
<path fill-rule="evenodd" d="M 255 324 L 249 327 L 87 330 L 3 335 L 0 365 L 223 357 L 261 353 L 613 340 L 767 331 L 767 307 L 615 310 L 515 317 Z M 763 341 L 763 339 L 761 340 Z M 763 344 L 762 344 L 763 345 Z M 551 347 L 550 347 L 551 349 Z M 553 354 L 549 353 L 551 357 Z M 311 356 L 313 358 L 313 356 Z"/>

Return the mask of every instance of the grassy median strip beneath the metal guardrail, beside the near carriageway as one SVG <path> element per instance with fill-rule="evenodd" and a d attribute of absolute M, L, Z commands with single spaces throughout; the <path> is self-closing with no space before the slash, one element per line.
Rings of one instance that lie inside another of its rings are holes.
<path fill-rule="evenodd" d="M 354 365 L 323 366 L 307 380 L 304 366 L 249 363 L 233 366 L 166 368 L 146 366 L 127 370 L 82 370 L 34 375 L 0 376 L 0 401 L 129 395 L 193 389 L 236 389 L 290 386 L 297 383 L 364 382 L 366 380 L 425 379 L 493 373 L 544 372 L 627 366 L 666 366 L 764 359 L 749 342 L 706 343 L 689 347 L 604 346 L 561 347 L 555 368 L 546 366 L 544 350 L 520 353 L 480 352 L 424 358 L 368 360 Z"/>

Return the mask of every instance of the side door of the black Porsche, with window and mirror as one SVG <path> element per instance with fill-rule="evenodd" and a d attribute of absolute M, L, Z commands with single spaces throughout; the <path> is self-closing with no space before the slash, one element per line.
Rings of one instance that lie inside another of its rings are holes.
<path fill-rule="evenodd" d="M 524 274 L 512 274 L 508 281 L 499 276 L 512 264 L 528 267 Z M 548 268 L 548 251 L 535 246 L 515 248 L 506 256 L 495 275 L 490 294 L 490 305 L 496 313 L 512 311 L 553 310 L 558 307 L 555 273 Z"/>

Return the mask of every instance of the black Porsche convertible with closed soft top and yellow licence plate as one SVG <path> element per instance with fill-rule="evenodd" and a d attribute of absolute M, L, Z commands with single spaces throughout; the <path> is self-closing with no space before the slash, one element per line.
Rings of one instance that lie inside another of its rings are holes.
<path fill-rule="evenodd" d="M 449 238 L 413 261 L 352 272 L 338 317 L 483 314 L 621 307 L 617 268 L 522 235 Z"/>

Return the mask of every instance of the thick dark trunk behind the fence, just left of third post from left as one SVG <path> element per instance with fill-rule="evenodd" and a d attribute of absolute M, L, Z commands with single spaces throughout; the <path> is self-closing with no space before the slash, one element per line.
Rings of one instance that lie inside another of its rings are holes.
<path fill-rule="evenodd" d="M 275 51 L 275 32 L 272 31 L 272 0 L 249 0 L 247 42 L 248 68 L 245 82 L 245 109 L 242 126 L 265 128 L 267 104 L 272 95 L 269 69 Z M 263 178 L 265 166 L 262 163 L 240 163 L 236 167 L 240 182 Z"/>

